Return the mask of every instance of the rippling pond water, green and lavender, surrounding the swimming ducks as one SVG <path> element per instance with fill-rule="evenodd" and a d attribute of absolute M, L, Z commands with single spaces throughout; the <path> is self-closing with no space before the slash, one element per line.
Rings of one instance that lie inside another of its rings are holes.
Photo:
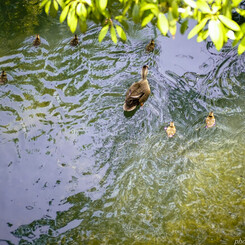
<path fill-rule="evenodd" d="M 43 23 L 0 30 L 0 244 L 245 240 L 245 55 L 133 23 L 125 44 L 91 24 L 73 48 Z M 152 94 L 127 115 L 145 64 Z"/>

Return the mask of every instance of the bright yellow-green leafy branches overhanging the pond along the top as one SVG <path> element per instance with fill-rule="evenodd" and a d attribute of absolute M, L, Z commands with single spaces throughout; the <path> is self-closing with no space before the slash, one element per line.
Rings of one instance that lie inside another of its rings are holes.
<path fill-rule="evenodd" d="M 184 33 L 189 19 L 194 19 L 197 24 L 188 39 L 197 35 L 197 42 L 202 42 L 210 37 L 217 50 L 231 39 L 233 45 L 239 43 L 238 54 L 241 54 L 245 51 L 245 23 L 239 25 L 232 20 L 234 11 L 245 17 L 240 3 L 241 0 L 42 0 L 40 7 L 51 16 L 56 16 L 60 7 L 60 22 L 66 19 L 73 33 L 78 25 L 86 32 L 88 20 L 100 23 L 100 42 L 109 29 L 114 43 L 117 36 L 126 41 L 122 26 L 129 19 L 142 27 L 152 22 L 163 35 L 169 32 L 173 38 L 178 21 L 180 32 Z"/>

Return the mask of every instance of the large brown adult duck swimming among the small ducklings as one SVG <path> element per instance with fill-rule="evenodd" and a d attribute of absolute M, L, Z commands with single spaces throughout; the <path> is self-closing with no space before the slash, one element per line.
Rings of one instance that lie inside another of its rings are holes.
<path fill-rule="evenodd" d="M 141 71 L 141 80 L 133 83 L 127 93 L 123 105 L 124 111 L 133 111 L 138 105 L 143 106 L 148 99 L 151 89 L 147 81 L 148 65 L 144 65 Z"/>

